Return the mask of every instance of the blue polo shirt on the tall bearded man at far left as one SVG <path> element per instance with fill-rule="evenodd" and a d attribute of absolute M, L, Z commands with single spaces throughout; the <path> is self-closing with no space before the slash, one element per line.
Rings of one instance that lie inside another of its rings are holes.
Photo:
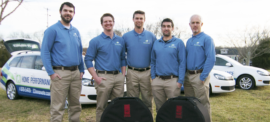
<path fill-rule="evenodd" d="M 84 72 L 80 32 L 70 25 L 67 29 L 58 21 L 47 28 L 41 45 L 41 59 L 48 75 L 54 74 L 52 66 L 78 66 Z"/>

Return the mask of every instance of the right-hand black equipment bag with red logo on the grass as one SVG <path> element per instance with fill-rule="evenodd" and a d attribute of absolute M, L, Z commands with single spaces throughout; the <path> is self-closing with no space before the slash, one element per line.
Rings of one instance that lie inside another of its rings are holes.
<path fill-rule="evenodd" d="M 178 96 L 161 106 L 156 122 L 210 122 L 210 116 L 196 97 Z"/>

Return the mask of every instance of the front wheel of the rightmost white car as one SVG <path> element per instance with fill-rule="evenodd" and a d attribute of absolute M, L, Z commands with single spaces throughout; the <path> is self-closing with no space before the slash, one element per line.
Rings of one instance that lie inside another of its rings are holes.
<path fill-rule="evenodd" d="M 242 75 L 237 81 L 237 86 L 244 90 L 251 90 L 255 86 L 255 80 L 250 75 Z"/>

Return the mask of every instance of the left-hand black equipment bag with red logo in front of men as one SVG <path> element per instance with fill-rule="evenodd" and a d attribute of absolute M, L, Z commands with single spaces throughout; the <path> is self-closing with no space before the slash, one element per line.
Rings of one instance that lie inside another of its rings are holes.
<path fill-rule="evenodd" d="M 153 122 L 153 117 L 141 99 L 118 97 L 106 107 L 100 122 Z"/>

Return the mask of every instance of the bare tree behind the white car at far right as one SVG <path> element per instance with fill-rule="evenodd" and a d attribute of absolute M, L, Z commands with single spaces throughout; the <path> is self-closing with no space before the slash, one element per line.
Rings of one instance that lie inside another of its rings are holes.
<path fill-rule="evenodd" d="M 270 45 L 264 45 L 263 49 L 260 45 L 269 38 L 269 30 L 266 27 L 260 29 L 260 27 L 248 28 L 246 26 L 243 32 L 238 31 L 238 34 L 227 36 L 225 42 L 237 49 L 239 55 L 245 59 L 246 65 L 250 65 L 250 59 L 270 53 Z"/>

